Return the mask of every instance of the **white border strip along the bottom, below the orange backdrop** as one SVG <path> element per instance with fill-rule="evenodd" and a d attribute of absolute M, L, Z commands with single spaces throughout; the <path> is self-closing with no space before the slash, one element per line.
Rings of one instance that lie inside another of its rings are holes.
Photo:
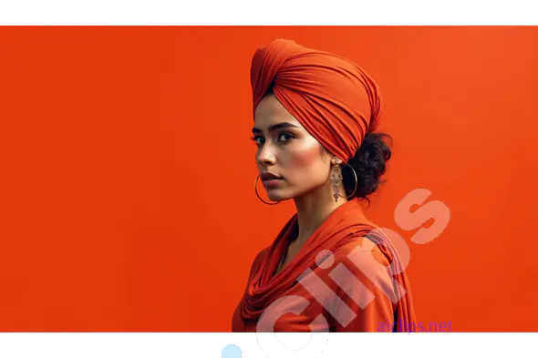
<path fill-rule="evenodd" d="M 276 334 L 287 342 L 307 343 L 305 338 L 310 336 Z M 324 351 L 317 356 L 517 357 L 533 355 L 537 339 L 536 333 L 331 333 Z M 237 350 L 224 350 L 230 344 L 240 348 L 240 355 Z M 223 354 L 223 350 L 228 354 Z M 299 357 L 300 353 L 301 350 L 290 351 L 287 356 Z M 254 358 L 265 354 L 255 333 L 0 333 L 0 356 Z"/>

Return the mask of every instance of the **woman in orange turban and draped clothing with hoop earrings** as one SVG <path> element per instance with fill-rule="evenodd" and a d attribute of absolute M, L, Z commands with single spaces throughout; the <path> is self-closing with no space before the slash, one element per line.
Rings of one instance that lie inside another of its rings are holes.
<path fill-rule="evenodd" d="M 254 259 L 233 332 L 408 332 L 404 267 L 359 202 L 390 158 L 374 132 L 377 84 L 343 57 L 276 39 L 255 52 L 251 85 L 255 193 L 297 212 Z"/>

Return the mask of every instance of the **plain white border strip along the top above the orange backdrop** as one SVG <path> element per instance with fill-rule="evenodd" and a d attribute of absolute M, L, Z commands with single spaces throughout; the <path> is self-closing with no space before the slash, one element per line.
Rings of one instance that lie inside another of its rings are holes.
<path fill-rule="evenodd" d="M 533 0 L 0 0 L 0 25 L 536 25 Z"/>

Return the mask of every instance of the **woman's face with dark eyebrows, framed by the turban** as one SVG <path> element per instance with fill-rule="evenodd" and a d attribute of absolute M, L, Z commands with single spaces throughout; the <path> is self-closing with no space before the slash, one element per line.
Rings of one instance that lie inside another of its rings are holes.
<path fill-rule="evenodd" d="M 261 180 L 269 199 L 292 199 L 327 183 L 330 154 L 273 94 L 256 107 L 253 140 L 260 174 L 281 178 Z"/>

